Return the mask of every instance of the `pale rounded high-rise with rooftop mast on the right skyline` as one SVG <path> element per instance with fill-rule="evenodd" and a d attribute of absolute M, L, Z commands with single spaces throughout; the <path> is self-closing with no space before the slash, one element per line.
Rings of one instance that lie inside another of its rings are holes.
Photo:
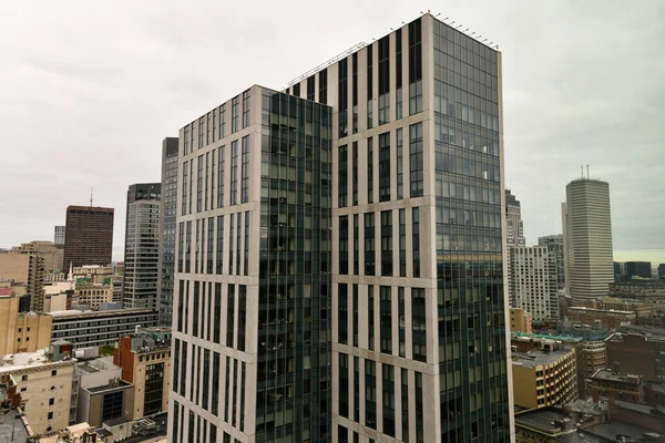
<path fill-rule="evenodd" d="M 610 185 L 577 178 L 565 187 L 564 247 L 573 305 L 607 295 L 614 281 Z"/>

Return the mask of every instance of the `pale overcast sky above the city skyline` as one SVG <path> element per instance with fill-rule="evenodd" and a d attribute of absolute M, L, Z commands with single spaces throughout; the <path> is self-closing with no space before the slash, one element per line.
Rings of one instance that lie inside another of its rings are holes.
<path fill-rule="evenodd" d="M 126 189 L 160 181 L 162 138 L 428 9 L 503 52 L 507 187 L 528 243 L 561 233 L 565 185 L 590 164 L 610 182 L 615 259 L 665 262 L 663 0 L 6 2 L 0 247 L 52 240 L 93 187 L 122 260 Z"/>

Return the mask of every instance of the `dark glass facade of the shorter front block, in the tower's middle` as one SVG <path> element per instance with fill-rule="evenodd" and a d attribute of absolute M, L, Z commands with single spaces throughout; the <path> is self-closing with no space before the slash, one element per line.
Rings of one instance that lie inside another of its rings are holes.
<path fill-rule="evenodd" d="M 331 114 L 265 90 L 263 111 L 256 441 L 326 442 Z"/>

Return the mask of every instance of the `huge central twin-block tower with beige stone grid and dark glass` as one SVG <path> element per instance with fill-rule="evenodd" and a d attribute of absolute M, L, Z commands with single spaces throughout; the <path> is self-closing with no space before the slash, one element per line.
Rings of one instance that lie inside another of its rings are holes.
<path fill-rule="evenodd" d="M 501 54 L 324 66 L 180 131 L 170 441 L 509 441 Z"/>

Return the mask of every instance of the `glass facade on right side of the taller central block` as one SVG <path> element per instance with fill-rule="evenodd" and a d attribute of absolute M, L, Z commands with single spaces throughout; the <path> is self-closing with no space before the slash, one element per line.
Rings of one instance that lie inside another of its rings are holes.
<path fill-rule="evenodd" d="M 432 23 L 441 441 L 509 441 L 498 55 Z"/>

